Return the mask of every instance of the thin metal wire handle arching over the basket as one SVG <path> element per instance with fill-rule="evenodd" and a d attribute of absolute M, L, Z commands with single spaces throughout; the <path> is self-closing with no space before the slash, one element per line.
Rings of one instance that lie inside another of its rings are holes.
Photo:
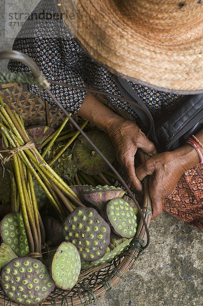
<path fill-rule="evenodd" d="M 39 67 L 37 66 L 37 64 L 27 55 L 21 53 L 21 52 L 17 52 L 15 50 L 9 50 L 9 51 L 4 51 L 4 52 L 0 52 L 0 60 L 4 60 L 4 59 L 10 59 L 10 60 L 14 60 L 14 61 L 19 61 L 22 62 L 23 64 L 26 64 L 32 71 L 34 77 L 41 79 L 42 74 L 41 71 L 39 69 Z M 47 79 L 46 79 L 47 80 Z M 49 81 L 49 80 L 47 80 Z M 51 81 L 51 80 L 50 80 Z M 52 82 L 53 83 L 53 82 Z M 67 83 L 60 83 L 60 86 L 65 86 L 65 87 L 72 87 L 71 85 L 67 84 Z M 48 84 L 48 83 L 47 83 Z M 74 86 L 75 87 L 75 86 Z M 89 90 L 89 88 L 86 87 L 80 87 L 80 89 L 83 89 L 85 91 L 91 91 Z M 56 97 L 52 94 L 52 92 L 49 90 L 49 86 L 47 85 L 47 88 L 45 88 L 46 92 L 48 93 L 48 95 L 53 99 L 54 103 L 62 110 L 62 112 L 68 117 L 69 121 L 75 126 L 75 128 L 80 131 L 80 133 L 87 139 L 87 141 L 90 143 L 90 145 L 94 148 L 95 151 L 98 152 L 98 154 L 100 155 L 100 157 L 102 157 L 102 159 L 107 163 L 107 165 L 109 166 L 109 168 L 114 172 L 114 174 L 118 177 L 119 181 L 121 182 L 121 184 L 125 187 L 126 191 L 128 191 L 128 193 L 130 194 L 130 196 L 132 197 L 132 199 L 134 200 L 134 202 L 137 205 L 138 211 L 141 215 L 144 227 L 145 227 L 145 231 L 146 231 L 146 235 L 147 235 L 147 242 L 145 244 L 145 246 L 143 246 L 142 248 L 145 249 L 148 244 L 149 244 L 149 231 L 148 231 L 148 227 L 143 215 L 143 212 L 139 206 L 139 204 L 137 203 L 137 200 L 134 196 L 134 194 L 132 193 L 132 191 L 130 190 L 130 188 L 128 187 L 128 185 L 124 182 L 124 180 L 122 179 L 122 177 L 120 176 L 120 174 L 116 171 L 116 169 L 112 166 L 112 164 L 105 158 L 105 156 L 102 154 L 102 152 L 99 151 L 99 149 L 94 145 L 94 143 L 89 139 L 89 137 L 83 132 L 83 130 L 81 130 L 80 126 L 77 124 L 77 122 L 75 122 L 72 117 L 68 114 L 68 112 L 65 110 L 65 108 L 59 103 L 59 101 L 56 99 Z M 100 91 L 96 91 L 99 94 L 105 94 L 103 92 Z M 116 98 L 118 98 L 115 95 Z M 123 100 L 127 100 L 125 98 L 122 98 Z"/>

